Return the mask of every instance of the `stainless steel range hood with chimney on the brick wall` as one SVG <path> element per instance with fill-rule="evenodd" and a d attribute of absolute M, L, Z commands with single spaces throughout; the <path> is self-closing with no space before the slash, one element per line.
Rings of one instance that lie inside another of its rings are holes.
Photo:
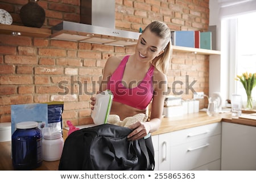
<path fill-rule="evenodd" d="M 61 22 L 52 38 L 112 46 L 132 46 L 140 33 L 115 29 L 115 0 L 81 0 L 81 23 Z"/>

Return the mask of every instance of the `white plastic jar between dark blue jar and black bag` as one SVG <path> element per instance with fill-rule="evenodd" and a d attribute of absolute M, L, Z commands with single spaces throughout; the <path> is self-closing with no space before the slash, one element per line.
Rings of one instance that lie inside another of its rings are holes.
<path fill-rule="evenodd" d="M 61 158 L 64 140 L 60 132 L 43 136 L 43 160 L 55 161 Z"/>

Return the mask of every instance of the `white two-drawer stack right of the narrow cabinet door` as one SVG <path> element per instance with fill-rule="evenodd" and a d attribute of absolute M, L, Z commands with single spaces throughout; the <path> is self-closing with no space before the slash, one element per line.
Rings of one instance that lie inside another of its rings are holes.
<path fill-rule="evenodd" d="M 170 136 L 170 169 L 199 169 L 221 159 L 221 123 L 174 131 Z M 213 165 L 220 170 L 220 165 Z"/>

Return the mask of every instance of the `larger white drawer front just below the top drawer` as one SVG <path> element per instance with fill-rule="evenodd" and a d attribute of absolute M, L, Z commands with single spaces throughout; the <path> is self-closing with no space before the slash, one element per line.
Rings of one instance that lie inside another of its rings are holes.
<path fill-rule="evenodd" d="M 173 146 L 170 150 L 171 170 L 191 170 L 221 158 L 221 135 Z"/>

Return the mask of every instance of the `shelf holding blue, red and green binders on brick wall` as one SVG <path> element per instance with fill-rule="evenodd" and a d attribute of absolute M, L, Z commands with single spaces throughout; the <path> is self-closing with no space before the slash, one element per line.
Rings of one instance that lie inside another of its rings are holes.
<path fill-rule="evenodd" d="M 177 52 L 191 52 L 200 55 L 220 55 L 220 51 L 214 51 L 209 49 L 199 49 L 199 48 L 191 48 L 191 47 L 180 47 L 180 46 L 172 46 L 173 51 Z"/>

